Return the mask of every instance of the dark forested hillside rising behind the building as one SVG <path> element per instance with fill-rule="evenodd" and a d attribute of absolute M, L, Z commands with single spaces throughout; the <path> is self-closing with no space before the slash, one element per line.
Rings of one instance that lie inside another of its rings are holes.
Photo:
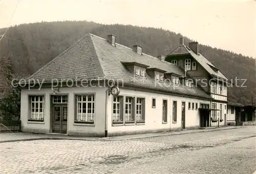
<path fill-rule="evenodd" d="M 4 30 L 0 29 L 0 35 Z M 153 56 L 172 52 L 181 37 L 181 34 L 155 28 L 101 25 L 88 21 L 42 22 L 11 27 L 0 43 L 0 58 L 11 60 L 15 74 L 28 76 L 88 32 L 104 38 L 115 34 L 119 44 L 127 47 L 141 45 L 144 53 Z M 189 41 L 185 37 L 185 44 Z M 255 59 L 203 45 L 199 50 L 229 79 L 247 79 L 244 84 L 247 88 L 232 88 L 228 95 L 230 101 L 250 104 L 255 90 Z M 244 94 L 238 94 L 239 90 Z"/>

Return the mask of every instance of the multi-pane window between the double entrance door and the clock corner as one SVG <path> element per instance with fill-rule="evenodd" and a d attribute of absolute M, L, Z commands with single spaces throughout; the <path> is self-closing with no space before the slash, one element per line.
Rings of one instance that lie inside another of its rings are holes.
<path fill-rule="evenodd" d="M 90 95 L 76 95 L 75 123 L 94 124 L 95 97 Z"/>

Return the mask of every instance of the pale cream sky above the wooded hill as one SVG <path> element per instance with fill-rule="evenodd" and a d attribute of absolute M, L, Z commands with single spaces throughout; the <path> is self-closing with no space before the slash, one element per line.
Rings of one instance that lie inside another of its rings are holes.
<path fill-rule="evenodd" d="M 255 0 L 0 0 L 0 28 L 62 20 L 163 28 L 256 58 Z"/>

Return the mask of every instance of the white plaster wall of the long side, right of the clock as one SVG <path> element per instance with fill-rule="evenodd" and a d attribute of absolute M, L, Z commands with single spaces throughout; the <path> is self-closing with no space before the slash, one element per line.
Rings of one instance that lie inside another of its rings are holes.
<path fill-rule="evenodd" d="M 120 96 L 134 96 L 145 98 L 145 124 L 144 125 L 122 125 L 112 126 L 112 101 L 113 96 L 108 98 L 108 133 L 116 133 L 123 131 L 136 131 L 136 130 L 154 130 L 154 129 L 173 129 L 181 128 L 181 102 L 186 102 L 186 128 L 199 126 L 200 115 L 199 110 L 188 110 L 188 102 L 210 103 L 206 100 L 198 100 L 193 98 L 177 97 L 171 95 L 163 95 L 156 93 L 141 92 L 129 89 L 120 89 Z M 152 98 L 156 98 L 156 108 L 152 108 Z M 167 99 L 167 124 L 162 123 L 162 102 Z M 177 101 L 177 123 L 173 123 L 173 101 Z M 196 105 L 196 104 L 195 104 Z"/>

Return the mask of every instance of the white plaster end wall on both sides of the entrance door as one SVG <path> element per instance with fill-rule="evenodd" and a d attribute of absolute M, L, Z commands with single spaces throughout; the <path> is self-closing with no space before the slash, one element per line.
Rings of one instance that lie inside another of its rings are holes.
<path fill-rule="evenodd" d="M 106 88 L 103 87 L 80 87 L 80 88 L 60 88 L 57 95 L 68 95 L 68 131 L 84 132 L 84 133 L 104 133 L 105 131 L 105 96 Z M 50 96 L 53 93 L 51 89 L 32 89 L 22 90 L 21 95 L 21 110 L 20 119 L 22 120 L 22 127 L 26 129 L 47 129 L 50 132 Z M 95 124 L 84 125 L 74 123 L 75 94 L 95 93 Z M 42 123 L 28 122 L 29 116 L 29 101 L 28 95 L 41 94 L 45 95 L 45 121 Z"/>

